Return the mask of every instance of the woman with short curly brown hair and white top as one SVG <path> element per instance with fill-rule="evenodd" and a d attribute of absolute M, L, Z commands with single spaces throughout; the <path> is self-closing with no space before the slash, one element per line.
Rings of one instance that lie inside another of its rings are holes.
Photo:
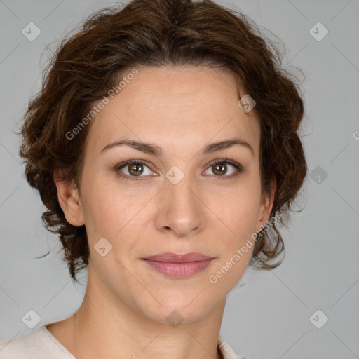
<path fill-rule="evenodd" d="M 219 334 L 248 265 L 280 264 L 306 176 L 296 84 L 255 24 L 212 1 L 133 0 L 62 42 L 20 156 L 88 285 L 12 358 L 238 358 Z M 243 358 L 243 357 L 240 357 Z"/>

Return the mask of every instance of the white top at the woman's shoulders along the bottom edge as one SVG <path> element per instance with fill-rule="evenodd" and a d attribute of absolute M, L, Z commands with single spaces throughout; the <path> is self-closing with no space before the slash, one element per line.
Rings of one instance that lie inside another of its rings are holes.
<path fill-rule="evenodd" d="M 46 324 L 47 325 L 47 324 Z M 219 334 L 218 346 L 224 359 L 245 359 L 237 356 Z M 0 359 L 76 359 L 45 325 L 36 327 L 22 338 L 0 341 Z"/>

